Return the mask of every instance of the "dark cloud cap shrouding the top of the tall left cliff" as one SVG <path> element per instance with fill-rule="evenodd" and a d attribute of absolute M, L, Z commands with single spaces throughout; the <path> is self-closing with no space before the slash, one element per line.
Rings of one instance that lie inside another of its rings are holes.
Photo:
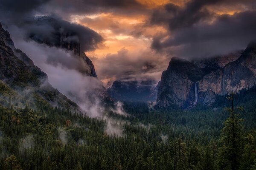
<path fill-rule="evenodd" d="M 94 50 L 103 38 L 92 29 L 69 23 L 57 17 L 33 17 L 20 25 L 27 38 L 40 43 L 58 46 L 60 42 L 80 42 L 81 52 Z"/>

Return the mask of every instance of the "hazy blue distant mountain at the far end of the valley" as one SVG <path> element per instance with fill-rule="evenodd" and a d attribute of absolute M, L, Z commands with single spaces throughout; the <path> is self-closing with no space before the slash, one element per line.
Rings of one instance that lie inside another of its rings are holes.
<path fill-rule="evenodd" d="M 115 81 L 108 93 L 117 100 L 155 101 L 157 97 L 157 82 L 147 81 Z"/>

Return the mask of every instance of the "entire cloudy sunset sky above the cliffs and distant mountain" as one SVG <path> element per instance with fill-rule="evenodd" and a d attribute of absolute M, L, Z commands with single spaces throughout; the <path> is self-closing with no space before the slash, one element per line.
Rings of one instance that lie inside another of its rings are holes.
<path fill-rule="evenodd" d="M 24 24 L 40 15 L 78 31 L 105 85 L 159 81 L 174 56 L 224 55 L 256 39 L 255 0 L 0 0 L 0 14 L 14 34 L 13 26 L 47 35 L 50 27 Z"/>

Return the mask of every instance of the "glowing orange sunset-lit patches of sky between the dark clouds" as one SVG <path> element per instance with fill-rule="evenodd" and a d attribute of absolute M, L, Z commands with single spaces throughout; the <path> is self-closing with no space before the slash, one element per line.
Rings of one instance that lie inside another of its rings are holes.
<path fill-rule="evenodd" d="M 128 50 L 131 53 L 151 51 L 153 37 L 156 35 L 172 37 L 168 25 L 147 24 L 152 11 L 163 8 L 166 3 L 174 3 L 183 8 L 189 0 L 137 0 L 137 2 L 146 7 L 144 12 L 135 14 L 102 12 L 86 15 L 74 14 L 70 16 L 71 22 L 89 27 L 104 38 L 104 42 L 102 45 L 99 45 L 99 48 L 94 51 L 86 51 L 87 56 L 93 60 L 96 71 L 100 67 L 98 65 L 99 60 L 104 60 L 108 54 L 117 54 L 122 49 Z M 210 5 L 205 8 L 216 15 L 233 15 L 236 12 L 246 10 L 243 6 L 222 6 L 220 8 L 219 6 Z M 208 20 L 208 22 L 214 22 L 214 18 Z M 115 79 L 115 77 L 99 78 L 105 84 Z"/>

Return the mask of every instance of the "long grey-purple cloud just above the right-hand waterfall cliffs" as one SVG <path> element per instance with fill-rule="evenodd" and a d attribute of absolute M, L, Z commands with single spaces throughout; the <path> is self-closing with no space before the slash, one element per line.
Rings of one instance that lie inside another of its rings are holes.
<path fill-rule="evenodd" d="M 256 11 L 221 15 L 213 23 L 201 23 L 177 31 L 166 40 L 154 39 L 151 47 L 167 48 L 180 57 L 209 57 L 244 49 L 256 39 Z"/>

